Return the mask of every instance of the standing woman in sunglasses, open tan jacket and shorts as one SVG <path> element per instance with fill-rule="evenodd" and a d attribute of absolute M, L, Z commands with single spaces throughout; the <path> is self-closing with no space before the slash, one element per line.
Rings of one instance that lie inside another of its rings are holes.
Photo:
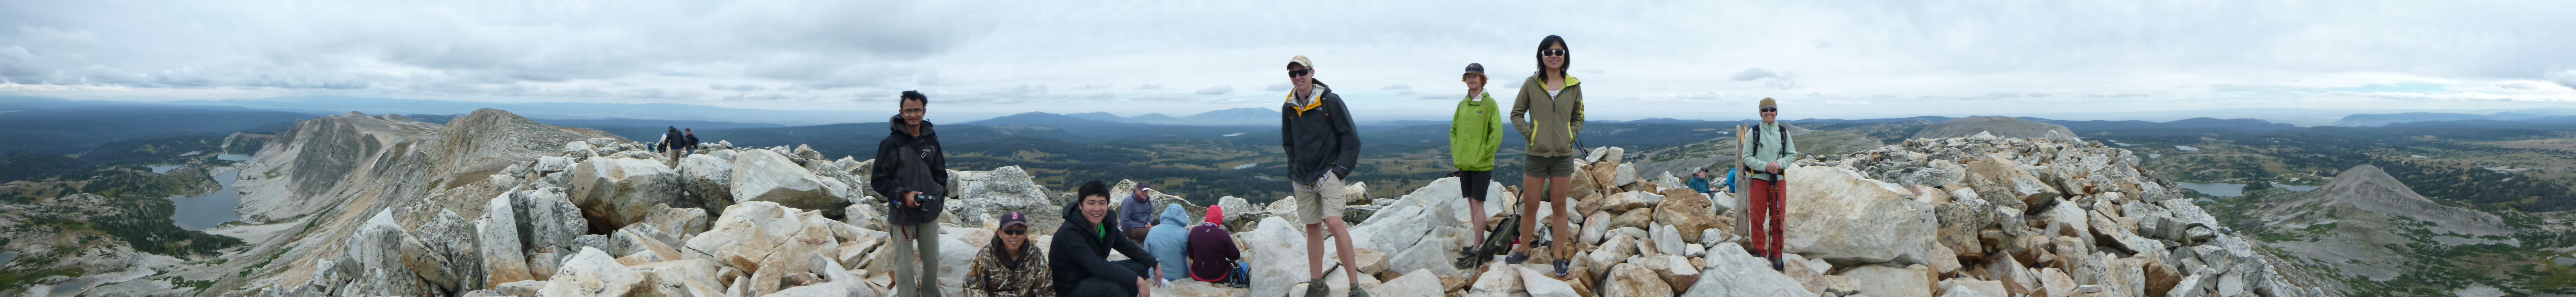
<path fill-rule="evenodd" d="M 1548 217 L 1556 235 L 1551 256 L 1556 258 L 1556 276 L 1564 276 L 1574 258 L 1574 230 L 1566 227 L 1566 212 L 1571 196 L 1566 189 L 1574 183 L 1574 134 L 1584 132 L 1584 80 L 1566 75 L 1574 65 L 1574 54 L 1566 52 L 1564 36 L 1538 39 L 1538 72 L 1530 72 L 1520 83 L 1520 96 L 1512 98 L 1512 127 L 1520 137 L 1530 139 L 1528 163 L 1520 170 L 1520 251 L 1507 256 L 1507 263 L 1530 261 L 1530 245 L 1538 243 L 1538 201 L 1546 194 L 1548 207 L 1556 207 Z M 1546 191 L 1540 191 L 1546 189 Z"/>

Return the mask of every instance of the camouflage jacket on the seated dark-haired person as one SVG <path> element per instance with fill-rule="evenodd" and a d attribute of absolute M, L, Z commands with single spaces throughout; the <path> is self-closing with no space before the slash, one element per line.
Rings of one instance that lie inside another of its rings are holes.
<path fill-rule="evenodd" d="M 974 269 L 966 269 L 966 294 L 969 297 L 1056 297 L 1054 274 L 1046 269 L 1046 253 L 1038 243 L 1023 243 L 1018 261 L 1002 258 L 1002 240 L 992 240 L 984 253 L 974 256 Z"/>

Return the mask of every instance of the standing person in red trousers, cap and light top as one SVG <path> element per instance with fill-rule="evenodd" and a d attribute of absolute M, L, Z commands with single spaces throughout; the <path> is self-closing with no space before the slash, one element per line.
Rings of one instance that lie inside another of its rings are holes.
<path fill-rule="evenodd" d="M 1798 160 L 1798 142 L 1777 119 L 1780 103 L 1762 98 L 1762 124 L 1741 134 L 1752 139 L 1741 147 L 1744 173 L 1749 173 L 1744 189 L 1752 194 L 1744 207 L 1744 214 L 1752 220 L 1747 227 L 1752 232 L 1749 251 L 1770 258 L 1772 271 L 1785 269 L 1780 263 L 1780 227 L 1788 217 L 1788 199 L 1783 196 L 1788 196 L 1790 160 Z"/>

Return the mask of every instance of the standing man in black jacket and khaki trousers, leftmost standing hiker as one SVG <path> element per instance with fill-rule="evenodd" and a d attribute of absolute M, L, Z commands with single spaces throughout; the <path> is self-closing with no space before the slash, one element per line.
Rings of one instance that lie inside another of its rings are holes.
<path fill-rule="evenodd" d="M 940 134 L 922 121 L 930 114 L 930 96 L 904 90 L 902 114 L 886 119 L 894 129 L 876 142 L 876 170 L 868 183 L 886 199 L 886 227 L 894 235 L 894 294 L 940 294 L 940 212 L 948 196 L 948 158 L 940 152 Z M 922 263 L 914 269 L 912 258 Z M 917 282 L 914 282 L 917 276 Z"/>

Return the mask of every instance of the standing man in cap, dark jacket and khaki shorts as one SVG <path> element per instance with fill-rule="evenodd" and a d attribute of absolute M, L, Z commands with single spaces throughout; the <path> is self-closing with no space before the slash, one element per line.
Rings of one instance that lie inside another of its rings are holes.
<path fill-rule="evenodd" d="M 1324 297 L 1324 227 L 1332 227 L 1334 248 L 1342 248 L 1342 271 L 1350 284 L 1360 284 L 1358 253 L 1350 248 L 1350 227 L 1342 222 L 1342 204 L 1350 204 L 1350 168 L 1360 165 L 1360 132 L 1342 108 L 1342 96 L 1314 80 L 1314 62 L 1288 59 L 1288 103 L 1280 106 L 1280 147 L 1288 150 L 1288 183 L 1293 189 L 1296 225 L 1306 225 L 1306 271 L 1311 282 L 1306 297 Z M 1368 292 L 1350 289 L 1352 297 Z"/>

